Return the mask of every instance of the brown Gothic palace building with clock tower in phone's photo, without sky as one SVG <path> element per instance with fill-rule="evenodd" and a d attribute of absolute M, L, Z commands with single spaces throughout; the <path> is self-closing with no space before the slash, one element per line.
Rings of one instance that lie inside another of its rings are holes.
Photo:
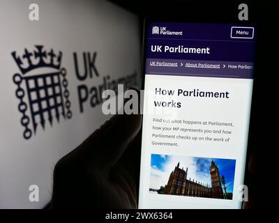
<path fill-rule="evenodd" d="M 191 178 L 187 179 L 188 167 L 186 171 L 179 168 L 179 163 L 175 167 L 174 171 L 169 176 L 169 180 L 165 187 L 161 187 L 158 190 L 159 194 L 173 194 L 188 197 L 207 197 L 216 199 L 232 199 L 232 193 L 226 192 L 224 183 L 224 192 L 221 185 L 221 180 L 224 177 L 219 175 L 219 169 L 215 162 L 212 160 L 211 167 L 209 168 L 211 176 L 211 187 L 204 185 Z M 225 182 L 225 180 L 223 181 Z"/>

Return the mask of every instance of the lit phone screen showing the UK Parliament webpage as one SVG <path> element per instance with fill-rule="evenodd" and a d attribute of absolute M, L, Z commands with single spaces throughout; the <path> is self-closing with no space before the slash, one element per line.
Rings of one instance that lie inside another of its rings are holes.
<path fill-rule="evenodd" d="M 255 28 L 146 26 L 139 208 L 241 208 Z"/>

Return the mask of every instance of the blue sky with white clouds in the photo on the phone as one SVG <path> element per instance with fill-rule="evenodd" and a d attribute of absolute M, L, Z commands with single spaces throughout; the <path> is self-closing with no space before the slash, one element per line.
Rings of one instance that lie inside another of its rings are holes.
<path fill-rule="evenodd" d="M 197 180 L 201 183 L 208 183 L 211 186 L 209 167 L 211 166 L 211 158 L 204 157 L 181 157 L 170 155 L 151 155 L 151 188 L 158 189 L 165 186 L 169 178 L 169 174 L 174 167 L 180 162 L 179 167 L 186 169 L 188 167 L 187 179 Z M 220 176 L 223 175 L 226 181 L 227 192 L 232 192 L 234 187 L 234 170 L 235 160 L 216 159 L 214 162 L 219 168 Z"/>

